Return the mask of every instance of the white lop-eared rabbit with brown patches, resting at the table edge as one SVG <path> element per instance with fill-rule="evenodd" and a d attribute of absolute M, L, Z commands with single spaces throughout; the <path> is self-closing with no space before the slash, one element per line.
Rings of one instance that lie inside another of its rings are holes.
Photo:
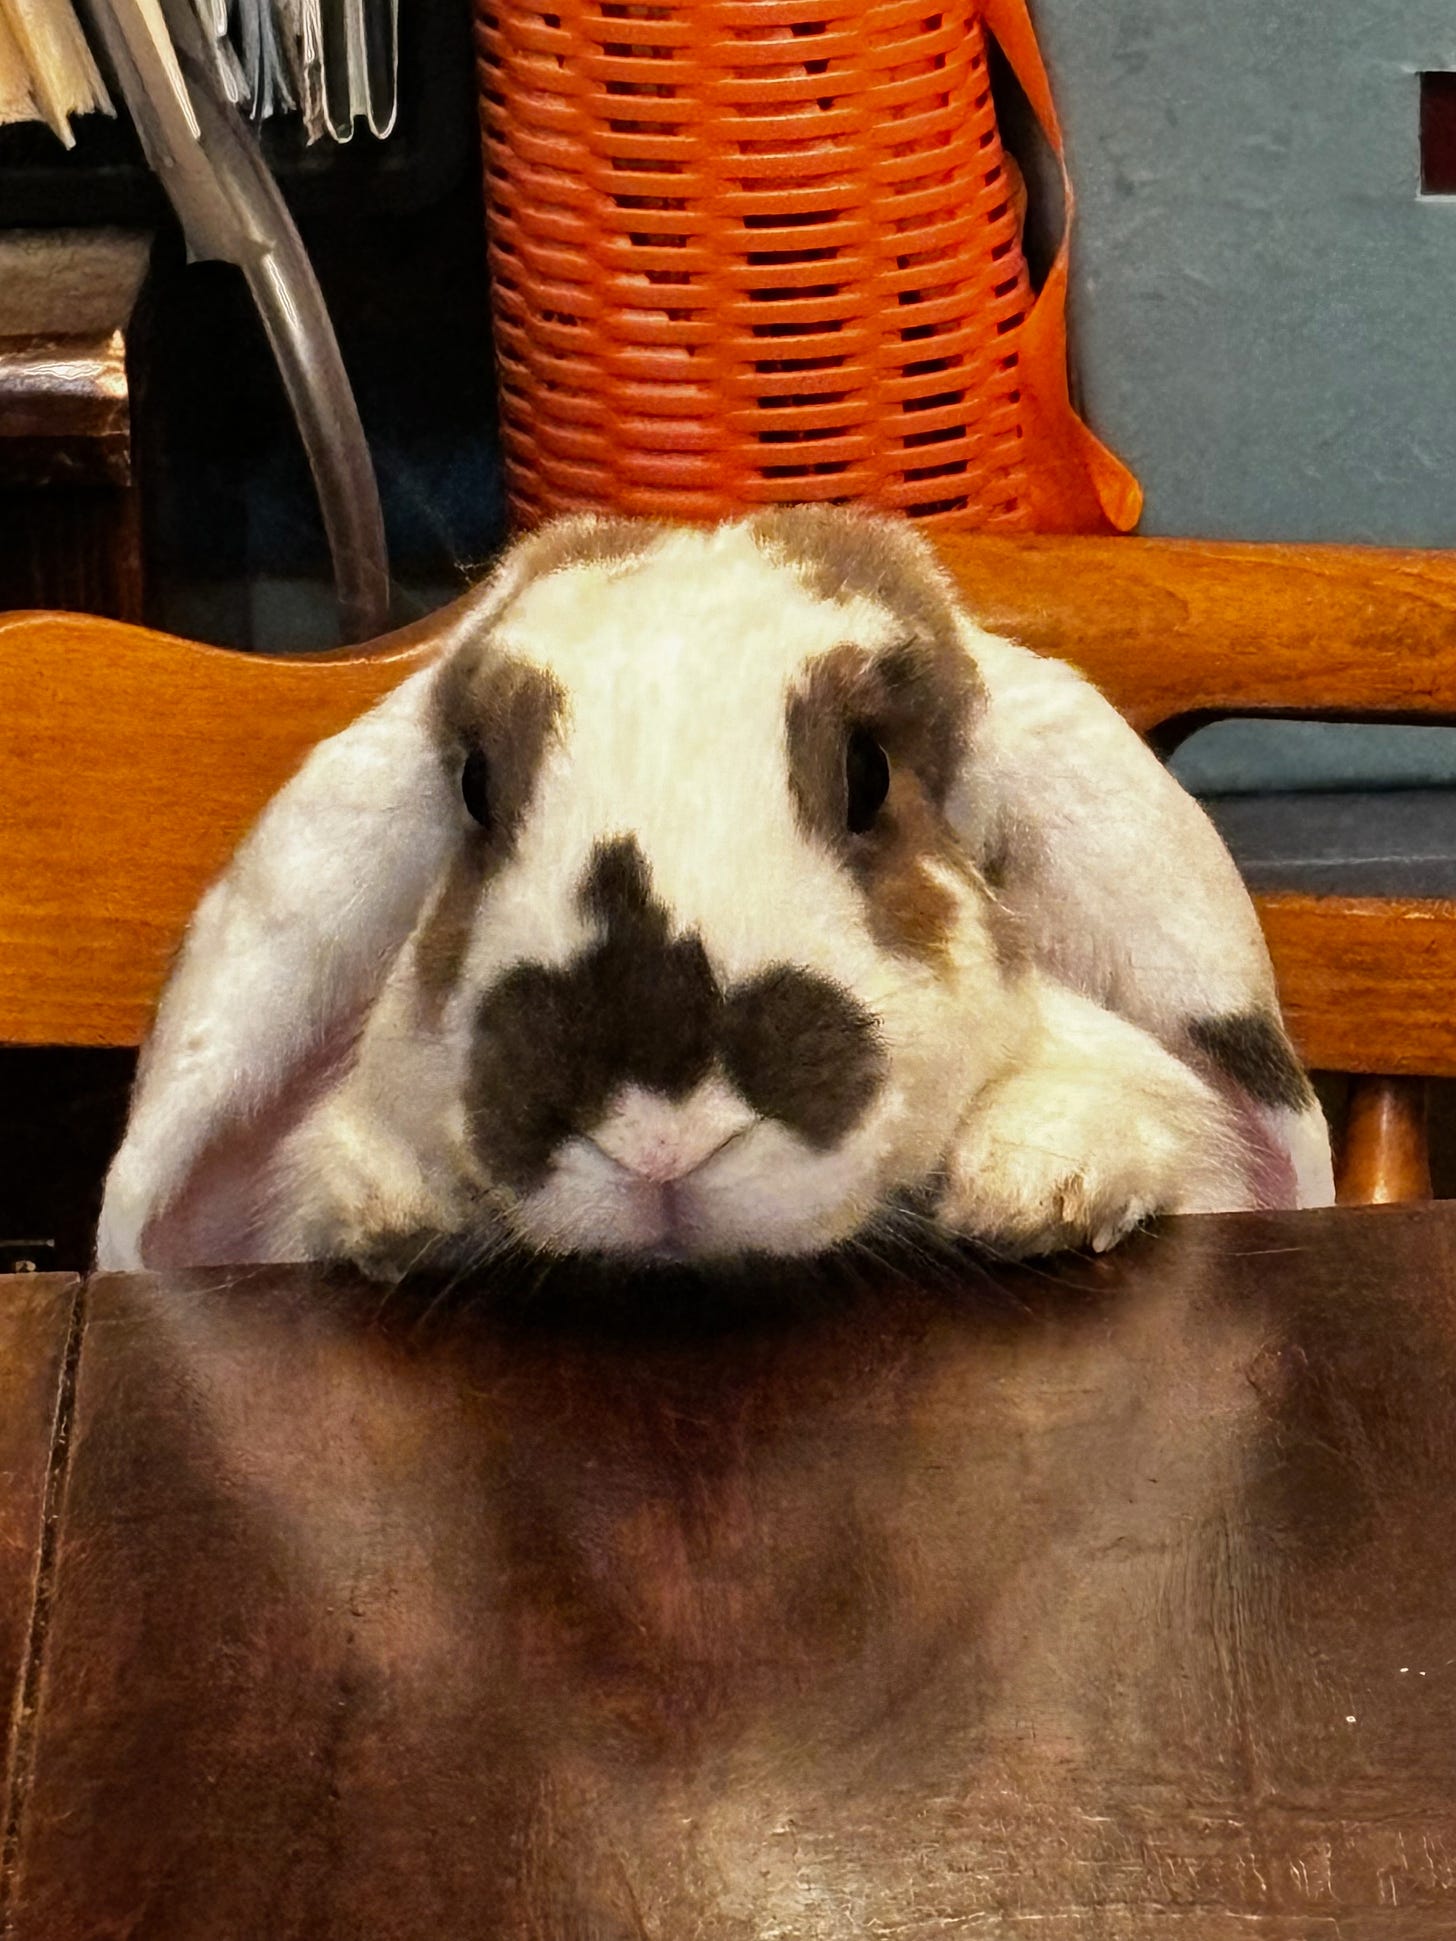
<path fill-rule="evenodd" d="M 905 520 L 571 516 L 206 893 L 97 1262 L 1025 1256 L 1330 1198 L 1233 860 L 1085 679 Z"/>

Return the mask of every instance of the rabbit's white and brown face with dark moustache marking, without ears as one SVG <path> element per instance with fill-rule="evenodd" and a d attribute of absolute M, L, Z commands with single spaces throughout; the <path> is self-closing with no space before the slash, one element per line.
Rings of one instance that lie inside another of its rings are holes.
<path fill-rule="evenodd" d="M 922 1186 L 1017 1029 L 945 821 L 980 701 L 909 536 L 598 530 L 441 668 L 400 959 L 472 1192 L 559 1252 L 800 1252 Z"/>

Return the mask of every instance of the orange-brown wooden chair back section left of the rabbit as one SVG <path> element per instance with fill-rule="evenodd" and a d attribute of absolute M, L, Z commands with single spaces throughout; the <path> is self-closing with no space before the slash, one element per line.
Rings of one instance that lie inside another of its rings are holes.
<path fill-rule="evenodd" d="M 0 1038 L 136 1044 L 192 906 L 307 751 L 429 652 L 268 660 L 0 619 Z"/>

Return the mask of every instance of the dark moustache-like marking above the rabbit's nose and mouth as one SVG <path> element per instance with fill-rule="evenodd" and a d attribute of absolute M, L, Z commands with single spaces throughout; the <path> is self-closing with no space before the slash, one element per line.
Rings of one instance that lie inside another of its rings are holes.
<path fill-rule="evenodd" d="M 722 992 L 701 939 L 670 934 L 631 837 L 598 844 L 580 905 L 602 939 L 563 969 L 516 965 L 476 1017 L 466 1104 L 503 1184 L 540 1186 L 621 1085 L 685 1099 L 714 1060 L 753 1110 L 817 1149 L 864 1114 L 885 1054 L 837 984 L 777 965 Z"/>

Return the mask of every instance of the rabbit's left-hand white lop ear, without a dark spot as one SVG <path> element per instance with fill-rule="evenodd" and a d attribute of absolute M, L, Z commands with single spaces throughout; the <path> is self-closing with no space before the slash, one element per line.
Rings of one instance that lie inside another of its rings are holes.
<path fill-rule="evenodd" d="M 433 683 L 425 668 L 322 741 L 202 899 L 142 1052 L 97 1266 L 266 1258 L 268 1157 L 347 1054 L 454 840 Z"/>

